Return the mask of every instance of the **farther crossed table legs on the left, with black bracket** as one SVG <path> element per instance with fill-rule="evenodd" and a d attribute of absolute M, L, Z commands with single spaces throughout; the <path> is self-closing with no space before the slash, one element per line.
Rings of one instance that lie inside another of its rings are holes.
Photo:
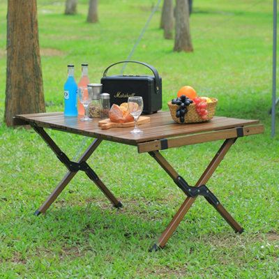
<path fill-rule="evenodd" d="M 60 193 L 63 191 L 63 189 L 68 185 L 71 179 L 77 174 L 78 171 L 82 170 L 86 173 L 87 176 L 89 176 L 89 179 L 91 179 L 96 186 L 105 194 L 105 196 L 110 199 L 110 202 L 114 204 L 115 207 L 119 208 L 122 206 L 121 202 L 114 197 L 114 195 L 110 192 L 110 190 L 105 186 L 105 184 L 99 179 L 97 174 L 89 167 L 89 165 L 86 163 L 86 160 L 91 156 L 93 151 L 95 151 L 98 147 L 98 145 L 102 142 L 102 140 L 96 139 L 93 140 L 92 144 L 84 151 L 82 156 L 79 160 L 77 160 L 77 163 L 71 162 L 65 153 L 61 151 L 59 146 L 56 145 L 56 143 L 52 140 L 52 138 L 47 135 L 45 130 L 41 127 L 38 127 L 36 125 L 32 125 L 33 129 L 36 130 L 36 132 L 40 135 L 40 137 L 45 140 L 45 142 L 50 146 L 52 151 L 56 154 L 56 156 L 61 160 L 61 162 L 66 165 L 66 167 L 69 169 L 69 172 L 63 177 L 59 185 L 53 190 L 53 192 L 50 194 L 49 197 L 45 200 L 42 206 L 34 213 L 34 215 L 38 216 L 40 213 L 45 213 L 47 209 L 50 207 L 52 202 L 55 201 L 55 199 L 60 195 Z"/>

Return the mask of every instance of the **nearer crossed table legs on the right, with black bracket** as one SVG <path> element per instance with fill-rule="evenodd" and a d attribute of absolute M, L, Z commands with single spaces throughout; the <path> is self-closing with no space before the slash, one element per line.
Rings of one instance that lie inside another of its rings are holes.
<path fill-rule="evenodd" d="M 160 236 L 160 239 L 157 241 L 156 244 L 150 249 L 150 251 L 158 250 L 165 246 L 170 236 L 179 225 L 183 217 L 186 215 L 187 211 L 192 206 L 193 202 L 197 195 L 204 195 L 204 197 L 208 200 L 210 204 L 214 206 L 214 208 L 220 213 L 220 215 L 227 221 L 227 223 L 234 229 L 235 232 L 243 232 L 243 228 L 232 218 L 232 216 L 227 212 L 227 210 L 220 204 L 218 199 L 211 193 L 211 191 L 204 185 L 207 181 L 209 181 L 213 172 L 215 172 L 216 168 L 220 164 L 221 160 L 223 160 L 229 148 L 234 144 L 236 139 L 228 139 L 225 140 L 223 145 L 220 147 L 219 151 L 216 153 L 216 156 L 211 160 L 211 163 L 206 168 L 202 176 L 197 181 L 195 188 L 192 186 L 188 186 L 188 183 L 184 181 L 184 179 L 179 176 L 179 174 L 174 170 L 174 168 L 167 163 L 167 160 L 163 158 L 163 156 L 159 153 L 159 151 L 151 151 L 149 154 L 159 163 L 165 172 L 169 174 L 170 177 L 174 180 L 174 182 L 183 190 L 186 195 L 188 195 L 187 199 L 181 205 L 179 211 L 176 212 L 174 218 L 169 223 L 163 234 Z M 193 195 L 193 192 L 196 192 L 197 195 Z M 202 192 L 202 193 L 201 193 Z M 201 193 L 201 194 L 199 194 Z"/>

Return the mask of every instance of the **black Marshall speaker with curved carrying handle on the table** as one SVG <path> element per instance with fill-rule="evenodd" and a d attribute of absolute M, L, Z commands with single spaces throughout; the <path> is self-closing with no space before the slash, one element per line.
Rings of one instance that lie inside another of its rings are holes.
<path fill-rule="evenodd" d="M 111 75 L 107 77 L 107 70 L 119 63 L 140 63 L 148 67 L 153 75 Z M 121 61 L 105 69 L 100 80 L 103 92 L 110 94 L 110 105 L 126 103 L 128 97 L 142 96 L 144 100 L 144 114 L 152 114 L 162 108 L 162 78 L 156 68 L 138 61 Z"/>

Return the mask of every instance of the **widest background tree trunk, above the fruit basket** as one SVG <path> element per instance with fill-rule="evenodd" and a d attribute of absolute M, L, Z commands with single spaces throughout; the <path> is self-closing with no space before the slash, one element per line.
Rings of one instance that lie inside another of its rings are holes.
<path fill-rule="evenodd" d="M 188 0 L 176 0 L 174 52 L 193 52 Z"/>

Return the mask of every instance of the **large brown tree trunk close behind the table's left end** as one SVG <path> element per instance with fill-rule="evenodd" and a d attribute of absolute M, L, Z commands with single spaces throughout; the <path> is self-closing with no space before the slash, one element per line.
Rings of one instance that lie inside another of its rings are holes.
<path fill-rule="evenodd" d="M 5 122 L 45 112 L 36 0 L 8 0 Z"/>

